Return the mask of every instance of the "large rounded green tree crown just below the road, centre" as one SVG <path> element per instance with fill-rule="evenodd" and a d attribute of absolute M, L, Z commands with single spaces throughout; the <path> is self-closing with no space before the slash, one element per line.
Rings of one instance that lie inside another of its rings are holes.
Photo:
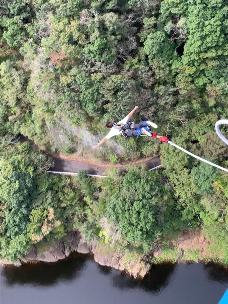
<path fill-rule="evenodd" d="M 114 220 L 132 243 L 152 241 L 155 234 L 162 231 L 161 213 L 167 209 L 169 197 L 157 178 L 156 173 L 131 169 L 118 191 L 107 200 L 107 217 Z"/>

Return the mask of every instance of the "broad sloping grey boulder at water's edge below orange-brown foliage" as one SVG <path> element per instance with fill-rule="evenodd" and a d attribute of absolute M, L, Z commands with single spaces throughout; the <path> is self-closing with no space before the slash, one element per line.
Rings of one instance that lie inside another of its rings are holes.
<path fill-rule="evenodd" d="M 36 260 L 43 262 L 56 262 L 64 259 L 65 257 L 66 255 L 63 241 L 54 240 L 51 246 L 47 245 L 47 250 L 37 254 Z"/>

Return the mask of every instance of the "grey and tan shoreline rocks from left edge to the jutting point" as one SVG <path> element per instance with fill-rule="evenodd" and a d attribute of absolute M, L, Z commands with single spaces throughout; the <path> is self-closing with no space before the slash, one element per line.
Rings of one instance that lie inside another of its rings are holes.
<path fill-rule="evenodd" d="M 105 245 L 104 245 L 105 246 Z M 1 261 L 2 265 L 14 264 L 15 266 L 21 266 L 23 263 L 43 261 L 47 263 L 53 263 L 68 257 L 71 253 L 77 251 L 81 254 L 94 255 L 94 260 L 102 266 L 108 266 L 120 271 L 126 271 L 134 278 L 143 278 L 150 270 L 151 266 L 147 261 L 143 259 L 133 259 L 130 263 L 126 263 L 125 257 L 116 252 L 107 251 L 102 248 L 102 244 L 98 244 L 96 240 L 92 245 L 87 244 L 80 233 L 80 231 L 68 232 L 66 241 L 53 240 L 49 244 L 44 244 L 42 251 L 40 248 L 34 245 L 22 259 L 18 259 L 16 263 L 11 263 L 8 259 Z"/>

